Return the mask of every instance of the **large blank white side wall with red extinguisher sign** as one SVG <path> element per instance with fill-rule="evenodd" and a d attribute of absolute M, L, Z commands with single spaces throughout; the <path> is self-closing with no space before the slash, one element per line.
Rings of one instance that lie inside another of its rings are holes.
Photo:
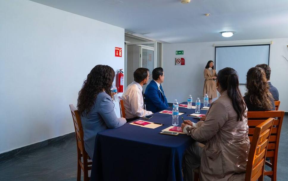
<path fill-rule="evenodd" d="M 28 0 L 1 0 L 0 22 L 0 153 L 74 132 L 90 70 L 124 68 L 124 29 Z"/>

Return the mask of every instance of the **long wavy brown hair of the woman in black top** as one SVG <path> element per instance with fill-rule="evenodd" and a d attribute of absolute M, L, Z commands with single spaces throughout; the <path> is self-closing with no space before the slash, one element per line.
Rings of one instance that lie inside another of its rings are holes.
<path fill-rule="evenodd" d="M 247 92 L 245 95 L 249 96 L 252 104 L 265 110 L 273 109 L 271 103 L 272 94 L 269 91 L 269 84 L 262 68 L 252 67 L 248 70 L 246 88 Z"/>

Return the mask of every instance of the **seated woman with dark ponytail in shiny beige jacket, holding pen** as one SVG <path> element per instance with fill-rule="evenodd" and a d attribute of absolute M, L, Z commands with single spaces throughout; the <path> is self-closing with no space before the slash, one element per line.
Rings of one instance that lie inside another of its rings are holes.
<path fill-rule="evenodd" d="M 247 109 L 238 85 L 234 69 L 220 70 L 216 82 L 220 97 L 211 104 L 205 120 L 181 124 L 183 132 L 195 140 L 184 153 L 185 181 L 194 179 L 193 170 L 199 166 L 203 181 L 245 179 L 250 141 Z"/>

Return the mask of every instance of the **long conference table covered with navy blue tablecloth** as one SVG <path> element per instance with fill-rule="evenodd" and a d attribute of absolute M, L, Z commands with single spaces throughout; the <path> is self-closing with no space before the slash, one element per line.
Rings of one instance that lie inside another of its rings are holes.
<path fill-rule="evenodd" d="M 187 102 L 181 104 L 187 104 Z M 192 105 L 195 106 L 195 103 Z M 172 110 L 172 108 L 166 110 Z M 186 113 L 179 116 L 178 126 L 181 126 L 183 122 L 182 116 L 184 120 L 189 119 L 194 123 L 199 121 L 187 116 L 195 113 L 195 109 L 179 107 L 179 112 Z M 200 114 L 206 114 L 206 112 L 207 110 L 201 110 Z M 193 139 L 186 134 L 178 136 L 159 134 L 161 130 L 172 126 L 172 115 L 157 112 L 152 116 L 147 121 L 164 125 L 150 129 L 126 123 L 120 128 L 98 132 L 95 140 L 91 180 L 183 180 L 182 157 Z M 140 118 L 139 120 L 144 119 Z"/>

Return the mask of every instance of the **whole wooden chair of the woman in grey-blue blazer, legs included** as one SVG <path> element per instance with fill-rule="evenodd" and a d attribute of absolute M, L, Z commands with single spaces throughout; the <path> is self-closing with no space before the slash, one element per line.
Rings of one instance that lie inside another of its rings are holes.
<path fill-rule="evenodd" d="M 90 177 L 88 177 L 88 171 L 91 170 L 92 161 L 84 148 L 84 133 L 78 110 L 76 109 L 76 107 L 73 106 L 73 104 L 70 104 L 69 106 L 74 122 L 77 141 L 77 181 L 80 181 L 81 179 L 81 169 L 84 173 L 84 181 L 88 181 L 90 180 Z"/>

